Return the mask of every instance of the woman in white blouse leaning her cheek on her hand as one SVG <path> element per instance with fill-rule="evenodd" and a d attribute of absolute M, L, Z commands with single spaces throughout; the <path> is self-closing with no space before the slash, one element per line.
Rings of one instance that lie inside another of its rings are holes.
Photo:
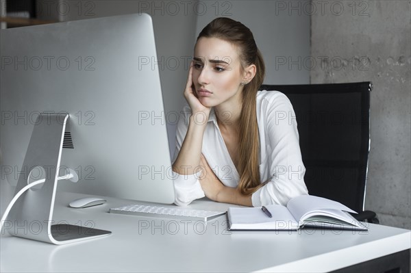
<path fill-rule="evenodd" d="M 284 94 L 258 91 L 264 70 L 240 22 L 216 18 L 199 34 L 177 125 L 176 205 L 286 205 L 308 194 L 295 114 Z"/>

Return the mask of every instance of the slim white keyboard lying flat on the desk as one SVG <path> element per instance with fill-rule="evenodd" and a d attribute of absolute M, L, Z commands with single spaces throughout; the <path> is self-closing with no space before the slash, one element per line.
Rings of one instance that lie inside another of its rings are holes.
<path fill-rule="evenodd" d="M 145 216 L 155 218 L 169 218 L 178 220 L 195 220 L 207 222 L 225 214 L 221 211 L 205 211 L 199 209 L 183 209 L 174 207 L 157 207 L 148 205 L 127 205 L 110 209 L 110 213 L 131 216 Z"/>

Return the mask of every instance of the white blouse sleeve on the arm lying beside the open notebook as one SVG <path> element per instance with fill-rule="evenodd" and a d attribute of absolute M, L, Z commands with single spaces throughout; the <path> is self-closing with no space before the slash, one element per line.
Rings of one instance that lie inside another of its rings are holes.
<path fill-rule="evenodd" d="M 266 149 L 266 158 L 262 160 L 270 166 L 269 182 L 251 196 L 253 207 L 286 205 L 291 198 L 308 194 L 295 112 L 286 95 L 275 93 L 265 99 L 258 110 L 264 116 L 262 126 L 266 147 L 262 149 Z"/>

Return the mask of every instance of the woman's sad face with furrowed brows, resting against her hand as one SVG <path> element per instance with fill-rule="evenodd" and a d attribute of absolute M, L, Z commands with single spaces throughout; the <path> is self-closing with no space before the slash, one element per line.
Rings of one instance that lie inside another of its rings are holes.
<path fill-rule="evenodd" d="M 194 50 L 192 82 L 207 107 L 240 103 L 244 81 L 238 49 L 219 38 L 199 38 Z"/>

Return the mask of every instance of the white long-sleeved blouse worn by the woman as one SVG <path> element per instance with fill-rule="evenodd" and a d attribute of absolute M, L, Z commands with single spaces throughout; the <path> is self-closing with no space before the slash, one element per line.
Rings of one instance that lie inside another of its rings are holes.
<path fill-rule="evenodd" d="M 188 129 L 190 107 L 186 105 L 182 113 L 177 125 L 177 147 L 173 161 L 177 158 Z M 257 121 L 260 178 L 262 183 L 269 182 L 252 194 L 253 207 L 286 205 L 291 198 L 308 194 L 304 183 L 306 168 L 301 159 L 297 120 L 287 96 L 278 91 L 258 91 Z M 204 133 L 202 153 L 221 183 L 237 187 L 240 175 L 229 156 L 213 109 Z M 199 170 L 191 175 L 173 173 L 176 205 L 188 205 L 192 200 L 205 196 L 198 180 L 201 177 Z"/>

